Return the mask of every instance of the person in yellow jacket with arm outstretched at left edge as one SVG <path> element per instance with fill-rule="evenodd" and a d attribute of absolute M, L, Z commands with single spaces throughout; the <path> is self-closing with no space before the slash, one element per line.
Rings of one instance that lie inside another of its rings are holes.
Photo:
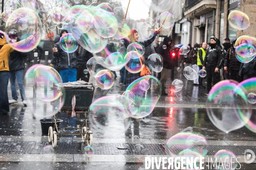
<path fill-rule="evenodd" d="M 9 56 L 15 51 L 12 48 L 28 44 L 34 36 L 29 36 L 24 40 L 12 44 L 6 44 L 6 34 L 0 31 L 0 113 L 7 114 L 9 112 L 9 100 L 7 94 L 7 86 L 9 81 Z"/>

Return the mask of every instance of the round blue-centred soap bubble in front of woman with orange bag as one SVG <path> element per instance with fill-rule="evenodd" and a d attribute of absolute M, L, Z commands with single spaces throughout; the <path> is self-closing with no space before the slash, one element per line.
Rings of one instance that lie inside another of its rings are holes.
<path fill-rule="evenodd" d="M 130 56 L 140 56 L 139 58 L 131 58 Z M 145 65 L 145 59 L 143 56 L 141 56 L 140 54 L 138 54 L 136 51 L 130 51 L 125 55 L 125 58 L 130 57 L 130 61 L 127 63 L 127 65 L 125 65 L 125 68 L 127 71 L 129 71 L 130 73 L 139 73 L 144 65 Z"/>

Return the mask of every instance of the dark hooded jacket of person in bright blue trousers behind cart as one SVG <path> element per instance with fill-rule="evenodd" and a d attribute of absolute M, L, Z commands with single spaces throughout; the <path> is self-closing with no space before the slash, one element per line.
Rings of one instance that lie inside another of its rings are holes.
<path fill-rule="evenodd" d="M 61 34 L 63 33 L 63 31 L 65 30 L 61 30 Z M 60 34 L 60 36 L 61 36 Z M 63 51 L 61 49 L 61 46 L 58 43 L 55 44 L 55 47 L 57 48 L 58 52 L 57 53 L 53 53 L 54 57 L 58 58 L 58 68 L 59 70 L 66 70 L 68 69 L 68 66 L 70 65 L 70 68 L 76 68 L 76 52 L 73 53 L 67 53 L 65 51 Z"/>

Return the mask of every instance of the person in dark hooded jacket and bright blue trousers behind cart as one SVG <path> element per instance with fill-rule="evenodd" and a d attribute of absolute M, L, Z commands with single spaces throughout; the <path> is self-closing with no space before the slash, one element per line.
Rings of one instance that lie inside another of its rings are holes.
<path fill-rule="evenodd" d="M 60 37 L 67 33 L 67 30 L 62 29 Z M 62 81 L 64 83 L 76 82 L 76 52 L 67 53 L 63 51 L 58 42 L 55 44 L 55 48 L 53 48 L 53 55 L 59 61 L 58 68 L 60 71 Z"/>

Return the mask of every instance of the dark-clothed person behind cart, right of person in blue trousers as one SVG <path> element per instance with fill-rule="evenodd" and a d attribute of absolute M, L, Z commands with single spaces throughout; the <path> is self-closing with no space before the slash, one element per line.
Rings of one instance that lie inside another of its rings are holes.
<path fill-rule="evenodd" d="M 77 59 L 77 80 L 84 80 L 85 82 L 89 82 L 90 74 L 84 74 L 84 69 L 87 69 L 87 61 L 93 57 L 93 54 L 81 47 L 78 46 L 76 50 L 76 59 Z"/>

